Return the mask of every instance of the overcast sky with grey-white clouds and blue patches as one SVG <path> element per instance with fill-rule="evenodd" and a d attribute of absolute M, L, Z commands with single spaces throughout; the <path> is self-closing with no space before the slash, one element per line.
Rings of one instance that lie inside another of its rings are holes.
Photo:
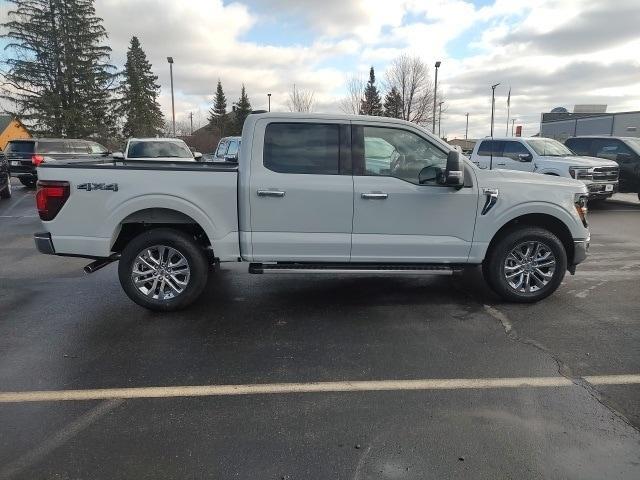
<path fill-rule="evenodd" d="M 176 115 L 206 116 L 218 78 L 229 106 L 247 88 L 252 106 L 286 110 L 292 84 L 315 92 L 318 112 L 338 112 L 349 75 L 378 78 L 402 52 L 441 60 L 439 88 L 449 138 L 489 133 L 490 85 L 496 131 L 506 127 L 506 96 L 525 134 L 540 112 L 576 103 L 640 110 L 640 0 L 97 0 L 123 63 L 137 35 L 162 87 L 170 118 L 169 68 L 175 59 Z"/>

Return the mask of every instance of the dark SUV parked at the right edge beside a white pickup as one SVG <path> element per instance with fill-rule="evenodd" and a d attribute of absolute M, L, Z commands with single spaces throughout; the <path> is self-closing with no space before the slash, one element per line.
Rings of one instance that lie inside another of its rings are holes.
<path fill-rule="evenodd" d="M 578 155 L 606 158 L 620 166 L 622 193 L 637 193 L 640 200 L 640 138 L 573 137 L 564 144 Z"/>

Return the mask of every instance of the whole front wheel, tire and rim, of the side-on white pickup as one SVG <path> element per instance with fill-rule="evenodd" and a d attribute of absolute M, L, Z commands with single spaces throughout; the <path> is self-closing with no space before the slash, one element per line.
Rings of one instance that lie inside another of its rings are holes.
<path fill-rule="evenodd" d="M 562 283 L 567 270 L 564 245 L 553 233 L 537 227 L 517 228 L 488 252 L 482 271 L 489 286 L 511 302 L 537 302 Z"/>

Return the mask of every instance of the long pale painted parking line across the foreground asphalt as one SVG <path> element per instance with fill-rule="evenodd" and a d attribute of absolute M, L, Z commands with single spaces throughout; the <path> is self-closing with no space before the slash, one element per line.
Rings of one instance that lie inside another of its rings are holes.
<path fill-rule="evenodd" d="M 592 385 L 640 384 L 640 375 L 594 375 L 581 378 Z M 61 402 L 125 398 L 216 397 L 287 393 L 545 388 L 570 387 L 573 385 L 575 385 L 575 383 L 565 377 L 442 378 L 422 380 L 258 383 L 247 385 L 186 385 L 175 387 L 0 392 L 0 403 Z"/>

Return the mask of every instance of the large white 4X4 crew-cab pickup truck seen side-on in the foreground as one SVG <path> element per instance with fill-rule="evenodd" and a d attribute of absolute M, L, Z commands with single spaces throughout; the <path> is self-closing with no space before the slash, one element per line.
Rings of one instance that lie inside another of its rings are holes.
<path fill-rule="evenodd" d="M 192 303 L 212 265 L 251 273 L 433 273 L 482 265 L 532 302 L 589 246 L 579 181 L 481 170 L 422 128 L 383 117 L 252 114 L 238 165 L 41 165 L 42 253 L 119 260 L 127 295 Z M 428 292 L 425 292 L 428 294 Z"/>

